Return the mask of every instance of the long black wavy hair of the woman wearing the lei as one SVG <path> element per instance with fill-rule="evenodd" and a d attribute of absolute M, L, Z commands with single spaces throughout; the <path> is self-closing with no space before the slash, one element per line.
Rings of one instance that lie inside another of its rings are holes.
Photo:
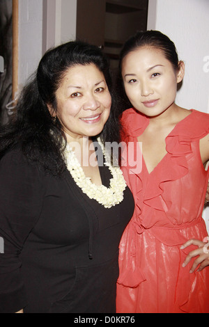
<path fill-rule="evenodd" d="M 15 118 L 1 127 L 0 158 L 8 150 L 20 147 L 29 162 L 38 163 L 52 175 L 63 173 L 66 169 L 63 157 L 66 138 L 61 122 L 58 118 L 54 122 L 47 105 L 52 106 L 56 112 L 56 90 L 65 72 L 75 65 L 89 64 L 94 64 L 104 74 L 112 99 L 109 119 L 100 138 L 103 143 L 120 141 L 116 97 L 113 94 L 107 57 L 94 45 L 72 41 L 49 49 L 40 60 L 38 69 L 20 94 Z"/>

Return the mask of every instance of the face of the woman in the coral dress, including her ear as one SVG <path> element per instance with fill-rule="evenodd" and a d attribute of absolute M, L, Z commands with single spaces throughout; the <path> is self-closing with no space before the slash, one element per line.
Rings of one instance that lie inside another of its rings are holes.
<path fill-rule="evenodd" d="M 135 49 L 123 58 L 125 93 L 135 109 L 150 117 L 172 108 L 183 73 L 183 63 L 177 72 L 155 47 Z"/>

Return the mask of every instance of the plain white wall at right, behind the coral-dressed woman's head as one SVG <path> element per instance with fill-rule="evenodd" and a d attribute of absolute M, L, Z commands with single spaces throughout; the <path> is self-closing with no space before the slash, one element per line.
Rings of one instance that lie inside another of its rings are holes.
<path fill-rule="evenodd" d="M 148 29 L 168 35 L 179 59 L 185 62 L 185 78 L 176 103 L 209 113 L 208 19 L 208 0 L 149 0 Z M 209 208 L 203 217 L 209 231 Z"/>

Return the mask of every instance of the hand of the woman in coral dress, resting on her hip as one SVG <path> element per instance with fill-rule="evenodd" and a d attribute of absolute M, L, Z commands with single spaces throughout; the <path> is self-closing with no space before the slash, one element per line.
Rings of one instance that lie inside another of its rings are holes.
<path fill-rule="evenodd" d="M 185 262 L 183 263 L 183 267 L 185 267 L 190 262 L 190 260 L 192 260 L 192 258 L 199 256 L 196 258 L 196 260 L 194 260 L 194 263 L 189 273 L 193 273 L 199 265 L 200 266 L 197 271 L 201 271 L 206 266 L 209 266 L 209 243 L 207 242 L 209 242 L 209 237 L 206 237 L 203 242 L 199 241 L 198 239 L 189 239 L 189 241 L 187 241 L 185 244 L 183 244 L 183 246 L 181 246 L 182 250 L 184 248 L 187 248 L 187 246 L 198 246 L 196 250 L 189 252 L 185 259 Z"/>

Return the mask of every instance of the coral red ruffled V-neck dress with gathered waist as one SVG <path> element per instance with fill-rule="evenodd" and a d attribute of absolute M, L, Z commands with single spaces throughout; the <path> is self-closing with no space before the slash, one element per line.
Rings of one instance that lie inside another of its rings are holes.
<path fill-rule="evenodd" d="M 134 109 L 123 113 L 123 141 L 137 143 L 149 124 Z M 188 239 L 208 241 L 201 218 L 209 170 L 201 161 L 199 140 L 209 133 L 209 115 L 191 110 L 166 138 L 167 154 L 149 174 L 130 162 L 123 167 L 135 211 L 120 244 L 117 312 L 209 312 L 209 266 L 189 273 Z M 138 169 L 139 170 L 139 169 Z"/>

